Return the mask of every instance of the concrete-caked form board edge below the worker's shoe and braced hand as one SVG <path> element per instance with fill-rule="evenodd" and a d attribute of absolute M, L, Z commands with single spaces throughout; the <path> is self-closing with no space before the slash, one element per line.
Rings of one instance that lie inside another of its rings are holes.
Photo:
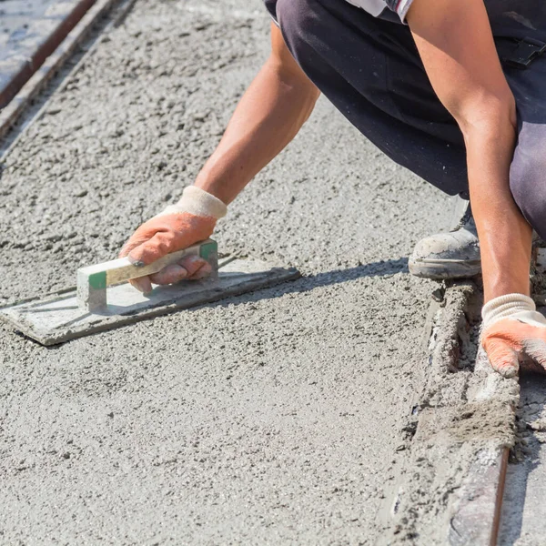
<path fill-rule="evenodd" d="M 394 523 L 395 535 L 386 544 L 425 543 L 421 536 L 420 520 L 425 516 L 421 506 L 423 495 L 429 494 L 437 511 L 436 540 L 440 541 L 441 536 L 441 542 L 434 543 L 450 546 L 497 543 L 508 457 L 515 440 L 519 385 L 516 379 L 503 379 L 496 374 L 483 349 L 477 351 L 474 359 L 475 328 L 480 324 L 481 305 L 480 288 L 470 279 L 443 285 L 432 295 L 422 338 L 428 355 L 427 369 L 423 388 L 416 393 L 415 405 L 403 429 L 410 431 L 410 440 L 406 440 L 402 451 L 407 453 L 406 459 L 401 462 L 399 478 L 392 486 L 394 501 L 389 507 L 387 528 Z M 451 394 L 444 391 L 448 385 L 459 389 L 456 391 L 459 399 L 450 398 L 455 391 Z M 451 439 L 450 434 L 446 436 L 437 427 L 444 430 L 450 427 L 451 420 L 444 419 L 442 414 L 449 418 L 451 410 L 457 411 L 451 406 L 453 403 L 460 403 L 462 410 L 467 407 L 470 417 L 475 413 L 474 423 L 478 427 L 486 415 L 480 412 L 481 408 L 498 413 L 505 426 L 481 438 L 470 433 L 465 440 Z M 437 434 L 433 432 L 430 436 L 431 430 L 437 430 Z M 423 440 L 429 442 L 429 447 L 415 450 Z M 455 458 L 456 466 L 448 466 L 446 470 L 447 455 Z M 456 470 L 458 460 L 460 470 Z"/>

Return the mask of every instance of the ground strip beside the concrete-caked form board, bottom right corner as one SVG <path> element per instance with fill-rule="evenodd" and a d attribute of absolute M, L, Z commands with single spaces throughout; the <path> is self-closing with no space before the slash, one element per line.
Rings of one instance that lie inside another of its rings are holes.
<path fill-rule="evenodd" d="M 518 442 L 509 465 L 499 546 L 546 544 L 546 378 L 521 379 Z"/>

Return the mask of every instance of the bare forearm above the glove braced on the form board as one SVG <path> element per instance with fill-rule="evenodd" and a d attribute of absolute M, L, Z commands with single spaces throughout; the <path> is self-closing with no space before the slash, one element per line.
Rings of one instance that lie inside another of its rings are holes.
<path fill-rule="evenodd" d="M 532 235 L 509 186 L 516 139 L 513 120 L 504 116 L 489 126 L 474 127 L 465 135 L 486 302 L 504 294 L 529 295 Z"/>

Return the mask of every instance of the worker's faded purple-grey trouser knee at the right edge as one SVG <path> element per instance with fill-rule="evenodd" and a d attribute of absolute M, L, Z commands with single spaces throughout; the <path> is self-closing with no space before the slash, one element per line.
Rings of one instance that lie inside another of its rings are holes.
<path fill-rule="evenodd" d="M 532 146 L 516 148 L 511 164 L 512 197 L 523 217 L 546 240 L 546 154 L 545 140 L 537 139 Z"/>

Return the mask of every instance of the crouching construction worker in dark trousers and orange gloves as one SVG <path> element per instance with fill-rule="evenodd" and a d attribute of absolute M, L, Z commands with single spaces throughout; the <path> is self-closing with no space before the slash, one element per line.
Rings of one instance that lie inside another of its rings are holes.
<path fill-rule="evenodd" d="M 147 264 L 217 219 L 308 119 L 323 93 L 387 156 L 450 195 L 460 226 L 410 258 L 421 277 L 483 276 L 481 343 L 506 377 L 546 367 L 546 320 L 530 298 L 532 228 L 546 238 L 546 3 L 542 0 L 264 0 L 271 55 L 216 151 L 175 206 L 121 255 Z M 480 242 L 479 242 L 480 241 Z M 185 258 L 149 291 L 202 278 Z"/>

